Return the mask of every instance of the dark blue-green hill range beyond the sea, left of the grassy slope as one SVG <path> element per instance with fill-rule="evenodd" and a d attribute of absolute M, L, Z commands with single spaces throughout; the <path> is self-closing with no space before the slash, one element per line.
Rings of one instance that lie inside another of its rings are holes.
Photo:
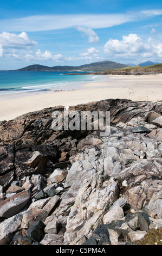
<path fill-rule="evenodd" d="M 105 70 L 113 70 L 113 69 L 120 69 L 126 68 L 127 65 L 111 62 L 109 60 L 105 60 L 103 62 L 94 62 L 90 64 L 85 64 L 81 66 L 43 66 L 43 65 L 30 65 L 22 69 L 14 70 L 14 71 L 105 71 Z"/>

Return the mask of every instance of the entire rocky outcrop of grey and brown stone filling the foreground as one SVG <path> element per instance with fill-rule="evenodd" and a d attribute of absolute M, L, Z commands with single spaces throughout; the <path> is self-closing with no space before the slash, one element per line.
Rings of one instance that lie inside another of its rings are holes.
<path fill-rule="evenodd" d="M 70 107 L 110 111 L 106 136 L 54 132 L 55 109 L 63 111 L 1 123 L 0 245 L 127 245 L 162 227 L 162 106 L 104 100 Z"/>

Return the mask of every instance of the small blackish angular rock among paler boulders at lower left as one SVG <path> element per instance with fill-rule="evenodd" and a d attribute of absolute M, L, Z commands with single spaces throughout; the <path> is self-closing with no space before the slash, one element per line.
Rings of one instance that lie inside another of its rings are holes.
<path fill-rule="evenodd" d="M 40 242 L 41 237 L 44 235 L 44 228 L 44 223 L 38 220 L 27 229 L 27 236 L 35 242 Z"/>

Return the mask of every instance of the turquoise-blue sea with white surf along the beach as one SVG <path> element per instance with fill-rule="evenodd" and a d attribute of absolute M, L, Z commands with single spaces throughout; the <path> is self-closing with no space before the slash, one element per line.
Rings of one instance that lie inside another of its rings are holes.
<path fill-rule="evenodd" d="M 68 74 L 68 72 L 0 71 L 0 95 L 63 90 L 66 86 L 73 84 L 79 86 L 83 82 L 97 81 L 100 77 L 63 74 Z"/>

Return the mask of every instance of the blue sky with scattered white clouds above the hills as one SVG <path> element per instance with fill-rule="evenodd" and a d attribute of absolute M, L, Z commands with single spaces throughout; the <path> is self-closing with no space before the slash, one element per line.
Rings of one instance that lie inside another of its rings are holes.
<path fill-rule="evenodd" d="M 161 0 L 1 1 L 0 70 L 162 63 L 161 28 Z"/>

